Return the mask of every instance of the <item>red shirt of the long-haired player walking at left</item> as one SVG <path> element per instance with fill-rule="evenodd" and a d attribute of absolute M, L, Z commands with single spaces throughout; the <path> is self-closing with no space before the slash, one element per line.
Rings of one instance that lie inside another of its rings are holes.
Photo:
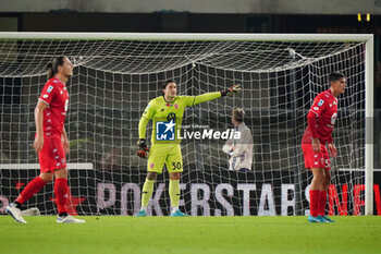
<path fill-rule="evenodd" d="M 65 84 L 57 77 L 49 80 L 39 99 L 48 105 L 44 111 L 44 135 L 61 135 L 69 107 L 69 93 Z"/>

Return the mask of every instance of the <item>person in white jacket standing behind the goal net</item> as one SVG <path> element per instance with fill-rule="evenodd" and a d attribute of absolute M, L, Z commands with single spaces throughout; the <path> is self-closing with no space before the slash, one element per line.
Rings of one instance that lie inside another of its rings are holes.
<path fill-rule="evenodd" d="M 251 170 L 253 164 L 253 135 L 244 122 L 245 111 L 236 108 L 232 111 L 232 123 L 235 131 L 241 132 L 239 140 L 230 138 L 222 150 L 231 156 L 229 170 L 246 172 Z"/>

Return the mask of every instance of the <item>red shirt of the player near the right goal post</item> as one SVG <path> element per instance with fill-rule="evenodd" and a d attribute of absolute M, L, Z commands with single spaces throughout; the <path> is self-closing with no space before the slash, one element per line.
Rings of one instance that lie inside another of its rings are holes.
<path fill-rule="evenodd" d="M 302 138 L 302 144 L 311 144 L 312 137 L 318 137 L 322 145 L 332 143 L 332 131 L 337 117 L 337 98 L 331 89 L 320 93 L 314 100 L 307 116 L 308 126 Z"/>

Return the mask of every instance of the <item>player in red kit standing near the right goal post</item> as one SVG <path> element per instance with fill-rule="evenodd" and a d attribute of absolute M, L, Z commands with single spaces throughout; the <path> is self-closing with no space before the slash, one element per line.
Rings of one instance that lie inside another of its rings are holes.
<path fill-rule="evenodd" d="M 337 117 L 337 97 L 345 90 L 346 78 L 342 73 L 331 73 L 329 81 L 331 87 L 314 100 L 307 116 L 308 126 L 302 138 L 305 167 L 314 174 L 309 189 L 310 222 L 334 222 L 325 215 L 327 190 L 331 181 L 328 149 L 332 157 L 336 157 L 332 131 Z"/>

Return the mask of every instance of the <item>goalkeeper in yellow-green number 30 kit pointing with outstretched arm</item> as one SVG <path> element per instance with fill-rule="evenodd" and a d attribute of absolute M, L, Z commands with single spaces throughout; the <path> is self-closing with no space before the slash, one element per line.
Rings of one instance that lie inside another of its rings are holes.
<path fill-rule="evenodd" d="M 149 157 L 147 162 L 148 173 L 142 192 L 142 208 L 135 216 L 147 216 L 146 210 L 153 192 L 153 183 L 158 173 L 162 173 L 164 164 L 170 174 L 171 216 L 187 216 L 179 209 L 180 173 L 183 171 L 183 158 L 177 133 L 180 133 L 184 110 L 186 107 L 239 92 L 241 86 L 234 85 L 222 92 L 207 93 L 199 96 L 177 96 L 175 81 L 170 80 L 163 84 L 163 95 L 149 101 L 139 121 L 139 150 L 137 155 L 146 158 L 149 152 Z M 152 146 L 149 150 L 145 138 L 146 126 L 151 119 L 153 121 Z"/>

